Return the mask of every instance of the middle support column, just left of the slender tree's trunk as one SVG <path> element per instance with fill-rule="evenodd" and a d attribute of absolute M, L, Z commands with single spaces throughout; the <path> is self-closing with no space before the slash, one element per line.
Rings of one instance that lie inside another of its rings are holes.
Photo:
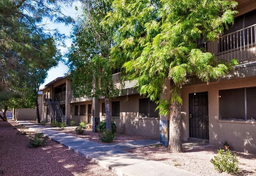
<path fill-rule="evenodd" d="M 98 125 L 98 122 L 100 121 L 100 99 L 98 99 L 96 97 L 93 97 L 91 115 L 92 115 L 92 119 L 93 119 L 93 132 L 97 132 L 96 126 Z"/>

